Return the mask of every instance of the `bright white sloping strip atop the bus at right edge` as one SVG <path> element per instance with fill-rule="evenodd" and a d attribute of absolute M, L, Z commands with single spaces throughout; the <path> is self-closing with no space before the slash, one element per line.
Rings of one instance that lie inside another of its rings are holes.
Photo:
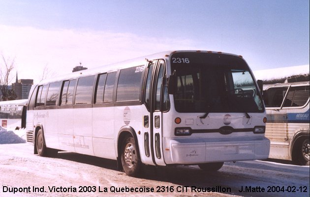
<path fill-rule="evenodd" d="M 255 78 L 260 80 L 281 79 L 293 75 L 309 74 L 309 65 L 255 70 L 253 73 Z"/>

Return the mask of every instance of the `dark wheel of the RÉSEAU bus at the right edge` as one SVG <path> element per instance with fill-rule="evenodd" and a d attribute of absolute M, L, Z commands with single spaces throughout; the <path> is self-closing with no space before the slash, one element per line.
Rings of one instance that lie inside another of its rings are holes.
<path fill-rule="evenodd" d="M 292 160 L 294 164 L 298 165 L 309 165 L 309 137 L 302 137 L 294 146 Z"/>

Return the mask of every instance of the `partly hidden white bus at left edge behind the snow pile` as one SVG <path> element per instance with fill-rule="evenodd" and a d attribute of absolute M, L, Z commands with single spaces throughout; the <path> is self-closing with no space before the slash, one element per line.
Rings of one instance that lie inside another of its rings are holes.
<path fill-rule="evenodd" d="M 0 101 L 0 123 L 7 130 L 26 128 L 28 99 Z"/>

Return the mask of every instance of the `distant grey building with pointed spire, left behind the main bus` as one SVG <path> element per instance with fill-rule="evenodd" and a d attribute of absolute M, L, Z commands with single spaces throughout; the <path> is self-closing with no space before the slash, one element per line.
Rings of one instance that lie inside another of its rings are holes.
<path fill-rule="evenodd" d="M 33 79 L 18 79 L 16 74 L 16 82 L 12 83 L 12 90 L 16 94 L 16 99 L 28 99 Z"/>

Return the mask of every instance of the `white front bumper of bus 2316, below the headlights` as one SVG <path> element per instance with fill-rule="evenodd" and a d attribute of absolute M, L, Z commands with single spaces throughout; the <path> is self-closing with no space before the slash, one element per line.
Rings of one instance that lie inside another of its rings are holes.
<path fill-rule="evenodd" d="M 171 164 L 261 160 L 268 158 L 270 149 L 270 141 L 264 136 L 212 140 L 171 138 L 169 144 Z M 165 161 L 166 164 L 170 163 Z"/>

